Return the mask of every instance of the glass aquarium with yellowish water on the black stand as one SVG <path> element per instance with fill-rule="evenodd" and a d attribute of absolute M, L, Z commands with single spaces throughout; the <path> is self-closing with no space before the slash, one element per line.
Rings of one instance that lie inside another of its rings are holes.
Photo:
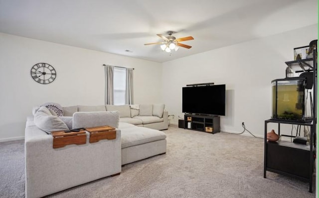
<path fill-rule="evenodd" d="M 305 116 L 306 78 L 272 81 L 272 119 L 303 121 Z"/>

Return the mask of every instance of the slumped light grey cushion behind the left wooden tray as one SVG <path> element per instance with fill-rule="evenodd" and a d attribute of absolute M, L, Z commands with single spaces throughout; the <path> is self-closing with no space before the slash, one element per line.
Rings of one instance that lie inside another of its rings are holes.
<path fill-rule="evenodd" d="M 69 130 L 67 125 L 58 116 L 52 115 L 45 106 L 35 112 L 34 124 L 48 134 L 52 131 Z"/>

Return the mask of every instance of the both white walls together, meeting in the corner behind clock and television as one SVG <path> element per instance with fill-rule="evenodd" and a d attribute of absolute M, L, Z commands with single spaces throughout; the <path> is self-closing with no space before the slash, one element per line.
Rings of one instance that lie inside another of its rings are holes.
<path fill-rule="evenodd" d="M 163 64 L 0 33 L 0 141 L 24 136 L 32 106 L 104 103 L 102 64 L 135 68 L 135 103 L 163 102 L 177 123 L 181 88 L 186 84 L 226 84 L 222 131 L 241 132 L 241 122 L 263 136 L 271 115 L 271 81 L 285 77 L 285 61 L 295 47 L 317 39 L 318 24 L 224 47 Z M 179 52 L 181 53 L 181 52 Z M 51 64 L 56 80 L 40 85 L 30 76 L 39 62 Z M 160 84 L 160 83 L 162 84 Z"/>

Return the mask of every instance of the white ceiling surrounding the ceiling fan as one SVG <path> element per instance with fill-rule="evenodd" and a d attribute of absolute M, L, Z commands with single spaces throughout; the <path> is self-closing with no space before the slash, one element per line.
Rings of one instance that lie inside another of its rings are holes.
<path fill-rule="evenodd" d="M 156 62 L 313 24 L 317 0 L 0 0 L 0 32 Z M 144 45 L 169 30 L 192 48 Z"/>

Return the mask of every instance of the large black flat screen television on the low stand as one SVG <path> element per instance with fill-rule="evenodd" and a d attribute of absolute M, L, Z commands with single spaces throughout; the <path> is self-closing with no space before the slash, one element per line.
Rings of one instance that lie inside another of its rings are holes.
<path fill-rule="evenodd" d="M 182 112 L 225 115 L 225 85 L 182 88 Z"/>

